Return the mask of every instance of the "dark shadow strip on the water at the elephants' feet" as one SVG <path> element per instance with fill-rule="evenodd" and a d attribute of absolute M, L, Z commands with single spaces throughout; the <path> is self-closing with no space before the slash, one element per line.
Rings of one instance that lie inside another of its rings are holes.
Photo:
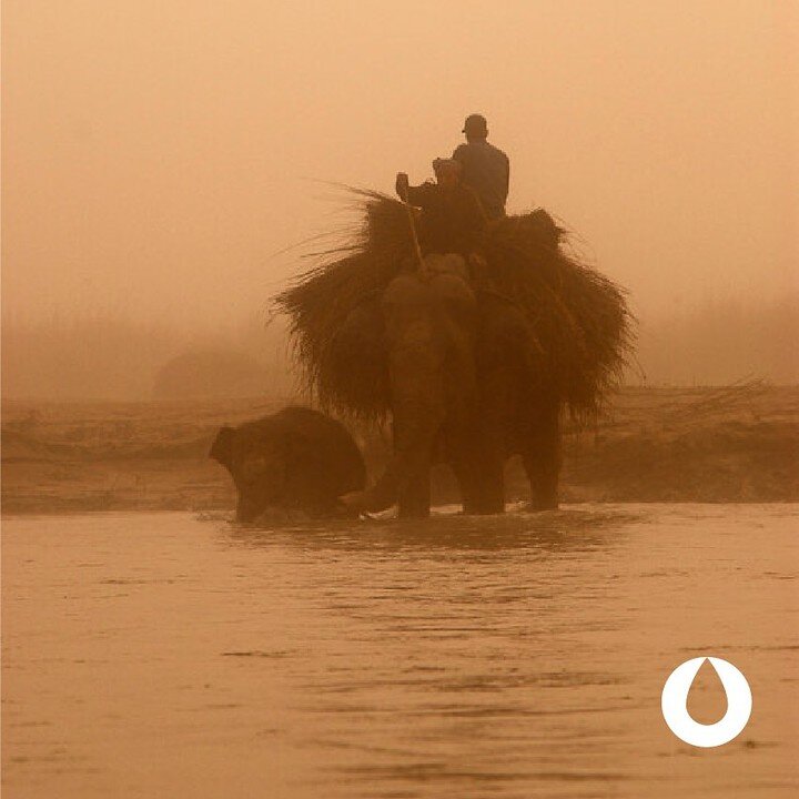
<path fill-rule="evenodd" d="M 297 545 L 340 550 L 513 550 L 579 552 L 609 543 L 641 515 L 613 508 L 564 508 L 528 513 L 517 507 L 495 516 L 466 516 L 437 508 L 429 519 L 376 518 L 285 525 L 229 524 L 225 539 L 235 546 Z"/>

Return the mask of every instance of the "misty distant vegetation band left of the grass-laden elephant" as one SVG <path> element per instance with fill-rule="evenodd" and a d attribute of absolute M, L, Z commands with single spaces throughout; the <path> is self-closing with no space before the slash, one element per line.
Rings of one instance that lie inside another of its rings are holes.
<path fill-rule="evenodd" d="M 3 396 L 150 400 L 155 393 L 174 397 L 176 386 L 168 364 L 186 353 L 209 352 L 215 353 L 221 383 L 230 384 L 234 373 L 236 380 L 241 377 L 235 390 L 216 396 L 275 396 L 292 391 L 285 336 L 256 316 L 188 331 L 166 323 L 93 315 L 43 322 L 3 318 Z M 230 356 L 229 364 L 224 353 Z M 240 374 L 242 364 L 249 364 L 244 370 L 249 381 Z M 208 386 L 200 385 L 203 380 L 198 375 L 186 385 L 189 396 L 208 394 Z"/>

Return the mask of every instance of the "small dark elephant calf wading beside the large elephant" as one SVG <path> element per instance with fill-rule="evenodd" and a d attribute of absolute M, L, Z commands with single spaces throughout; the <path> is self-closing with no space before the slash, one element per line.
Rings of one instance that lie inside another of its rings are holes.
<path fill-rule="evenodd" d="M 222 427 L 210 456 L 233 476 L 239 522 L 271 508 L 333 516 L 343 512 L 338 496 L 366 484 L 363 456 L 344 425 L 307 407 Z"/>

